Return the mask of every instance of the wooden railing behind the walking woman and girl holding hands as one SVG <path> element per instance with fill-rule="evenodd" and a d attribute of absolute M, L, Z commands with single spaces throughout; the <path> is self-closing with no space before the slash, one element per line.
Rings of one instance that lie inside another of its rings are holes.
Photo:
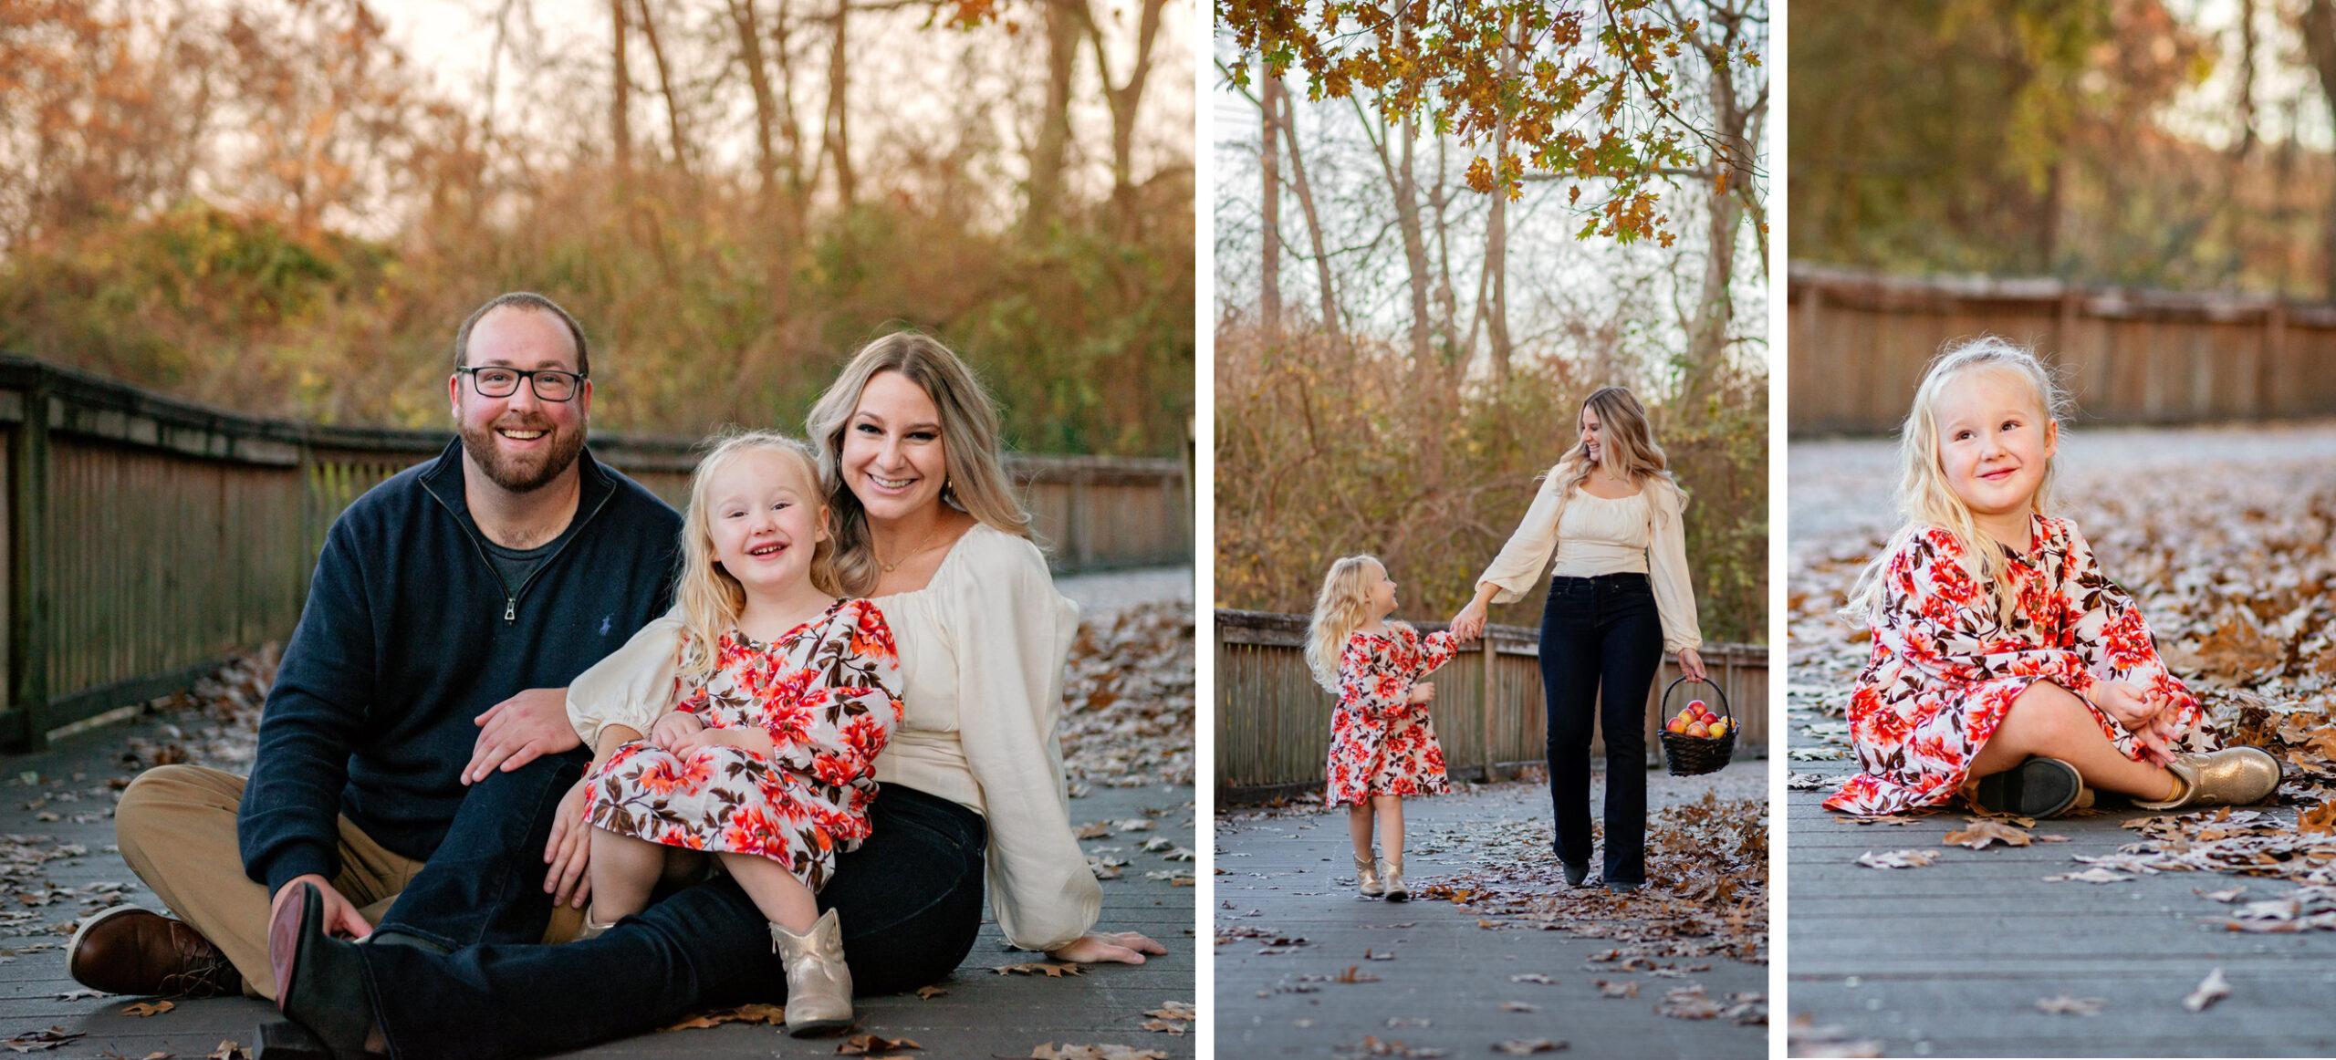
<path fill-rule="evenodd" d="M 1434 633 L 1444 623 L 1416 623 Z M 1539 630 L 1486 626 L 1483 640 L 1437 670 L 1437 742 L 1453 777 L 1490 780 L 1546 761 Z M 1738 759 L 1768 754 L 1768 649 L 1703 644 L 1703 668 L 1726 689 L 1743 728 Z M 1677 677 L 1668 658 L 1647 693 L 1647 761 L 1661 754 L 1654 698 Z M 1698 686 L 1701 689 L 1701 686 Z M 1680 689 L 1680 703 L 1689 686 Z M 1703 696 L 1710 698 L 1710 696 Z M 1217 799 L 1259 801 L 1322 787 L 1332 696 L 1306 670 L 1306 616 L 1217 609 Z M 1591 754 L 1605 754 L 1600 731 Z"/>

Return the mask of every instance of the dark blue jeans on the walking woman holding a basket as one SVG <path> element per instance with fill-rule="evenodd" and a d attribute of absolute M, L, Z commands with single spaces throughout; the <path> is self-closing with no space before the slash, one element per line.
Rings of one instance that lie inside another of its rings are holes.
<path fill-rule="evenodd" d="M 1560 577 L 1542 609 L 1549 803 L 1558 859 L 1591 859 L 1591 724 L 1605 721 L 1605 880 L 1647 883 L 1647 689 L 1663 619 L 1647 574 Z M 1593 714 L 1595 710 L 1595 714 Z"/>

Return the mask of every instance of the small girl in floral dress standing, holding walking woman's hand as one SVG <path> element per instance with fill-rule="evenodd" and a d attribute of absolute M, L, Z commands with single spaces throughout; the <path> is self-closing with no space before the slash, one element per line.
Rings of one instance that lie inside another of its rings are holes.
<path fill-rule="evenodd" d="M 1404 796 L 1444 794 L 1444 747 L 1427 719 L 1437 686 L 1423 682 L 1453 658 L 1451 630 L 1420 635 L 1395 614 L 1395 581 L 1371 556 L 1329 565 L 1306 635 L 1306 665 L 1339 696 L 1329 724 L 1329 808 L 1346 806 L 1355 883 L 1364 897 L 1404 901 Z M 1385 859 L 1371 859 L 1371 815 Z M 1385 876 L 1381 876 L 1385 873 Z"/>

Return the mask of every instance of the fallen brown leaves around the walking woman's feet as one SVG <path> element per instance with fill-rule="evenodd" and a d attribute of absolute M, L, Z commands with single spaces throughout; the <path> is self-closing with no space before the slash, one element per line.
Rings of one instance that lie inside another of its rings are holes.
<path fill-rule="evenodd" d="M 1768 801 L 1719 799 L 1668 806 L 1647 822 L 1647 880 L 1633 894 L 1570 887 L 1549 857 L 1549 827 L 1479 827 L 1479 869 L 1448 876 L 1425 897 L 1588 939 L 1626 943 L 1617 960 L 1768 960 Z M 1486 927 L 1500 927 L 1486 920 Z"/>

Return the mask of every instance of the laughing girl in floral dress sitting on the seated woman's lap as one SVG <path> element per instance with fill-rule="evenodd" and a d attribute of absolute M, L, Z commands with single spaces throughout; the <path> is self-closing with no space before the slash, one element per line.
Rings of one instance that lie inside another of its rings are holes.
<path fill-rule="evenodd" d="M 794 439 L 755 432 L 708 453 L 682 535 L 670 707 L 642 735 L 640 719 L 570 703 L 596 752 L 586 932 L 696 869 L 684 850 L 710 850 L 771 920 L 787 1032 L 843 1027 L 850 971 L 813 894 L 869 834 L 876 752 L 902 714 L 892 630 L 876 605 L 836 600 L 818 465 Z"/>

